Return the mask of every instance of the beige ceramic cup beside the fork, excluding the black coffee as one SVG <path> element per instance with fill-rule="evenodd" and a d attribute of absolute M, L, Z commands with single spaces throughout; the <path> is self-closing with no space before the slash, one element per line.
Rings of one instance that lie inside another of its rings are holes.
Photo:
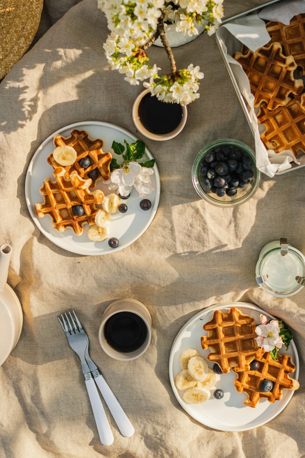
<path fill-rule="evenodd" d="M 147 336 L 146 336 L 144 344 L 141 345 L 139 349 L 128 352 L 128 353 L 121 353 L 113 349 L 107 343 L 107 340 L 105 339 L 105 334 L 104 334 L 105 324 L 112 315 L 115 315 L 116 313 L 119 313 L 119 312 L 135 313 L 136 315 L 140 316 L 142 320 L 144 321 L 144 323 L 146 324 Z M 150 312 L 147 310 L 145 305 L 142 304 L 142 302 L 139 302 L 139 300 L 136 300 L 136 299 L 124 298 L 124 299 L 115 300 L 110 305 L 108 305 L 107 309 L 104 311 L 104 314 L 102 316 L 102 322 L 101 322 L 101 326 L 98 332 L 98 340 L 100 342 L 100 345 L 108 356 L 111 356 L 111 358 L 115 360 L 120 360 L 120 361 L 135 360 L 136 358 L 139 358 L 139 356 L 141 356 L 141 354 L 143 354 L 148 349 L 148 346 L 150 344 L 150 338 L 151 338 L 151 316 L 150 316 Z"/>

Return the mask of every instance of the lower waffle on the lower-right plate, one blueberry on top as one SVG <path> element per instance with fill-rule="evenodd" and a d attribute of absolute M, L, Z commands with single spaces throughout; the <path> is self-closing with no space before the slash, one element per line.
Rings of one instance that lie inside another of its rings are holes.
<path fill-rule="evenodd" d="M 265 353 L 259 362 L 257 371 L 238 372 L 234 385 L 239 393 L 246 393 L 248 397 L 244 404 L 249 407 L 256 407 L 261 398 L 267 398 L 274 403 L 281 399 L 283 390 L 297 390 L 300 384 L 297 380 L 289 377 L 295 371 L 290 356 L 278 354 L 278 361 L 274 361 L 269 353 Z M 263 380 L 271 380 L 273 388 L 265 393 L 260 386 Z"/>

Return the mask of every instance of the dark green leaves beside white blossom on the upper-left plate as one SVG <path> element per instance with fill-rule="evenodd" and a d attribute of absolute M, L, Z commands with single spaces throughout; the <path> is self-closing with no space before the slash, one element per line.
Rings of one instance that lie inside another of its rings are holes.
<path fill-rule="evenodd" d="M 128 170 L 129 162 L 136 162 L 138 159 L 141 159 L 145 153 L 145 143 L 142 140 L 137 140 L 134 143 L 128 143 L 127 140 L 124 140 L 125 146 L 122 143 L 118 143 L 115 140 L 112 142 L 112 149 L 115 154 L 122 156 L 123 164 L 118 164 L 117 159 L 112 158 L 110 163 L 110 171 L 112 172 L 115 169 L 126 169 Z M 146 162 L 139 162 L 142 167 L 154 167 L 155 159 L 150 159 Z"/>

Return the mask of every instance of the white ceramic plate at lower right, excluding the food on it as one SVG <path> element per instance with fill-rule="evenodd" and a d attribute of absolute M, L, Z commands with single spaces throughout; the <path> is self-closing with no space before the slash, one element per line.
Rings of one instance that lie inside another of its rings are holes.
<path fill-rule="evenodd" d="M 268 402 L 268 399 L 262 399 L 256 408 L 252 408 L 243 404 L 243 400 L 247 395 L 246 393 L 237 392 L 234 386 L 236 378 L 234 372 L 218 376 L 215 386 L 225 392 L 224 397 L 222 399 L 215 399 L 213 389 L 211 390 L 211 397 L 203 404 L 188 404 L 183 401 L 183 391 L 177 390 L 175 385 L 175 378 L 181 371 L 179 365 L 180 353 L 188 347 L 195 348 L 198 350 L 200 356 L 207 360 L 209 349 L 203 350 L 200 343 L 201 336 L 207 335 L 207 332 L 203 330 L 203 325 L 211 320 L 215 310 L 221 310 L 225 313 L 232 306 L 237 307 L 245 315 L 253 316 L 256 323 L 259 323 L 261 313 L 266 315 L 266 312 L 256 305 L 246 304 L 245 302 L 212 305 L 200 311 L 182 327 L 174 340 L 169 359 L 169 375 L 171 387 L 179 403 L 199 423 L 220 431 L 247 431 L 264 425 L 276 417 L 289 403 L 294 391 L 284 390 L 283 397 L 279 401 L 272 404 Z M 268 320 L 275 319 L 272 315 L 267 314 L 267 317 Z M 295 364 L 295 371 L 293 374 L 290 374 L 290 377 L 298 379 L 299 356 L 294 341 L 292 340 L 290 342 L 288 351 L 284 347 L 279 353 L 288 353 L 291 356 Z M 208 360 L 207 362 L 209 367 L 213 368 L 214 364 Z"/>

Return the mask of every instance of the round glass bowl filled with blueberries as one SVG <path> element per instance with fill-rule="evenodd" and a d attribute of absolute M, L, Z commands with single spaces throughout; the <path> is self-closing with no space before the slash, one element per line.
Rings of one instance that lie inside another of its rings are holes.
<path fill-rule="evenodd" d="M 255 194 L 261 173 L 250 147 L 238 140 L 223 139 L 200 151 L 192 178 L 202 199 L 218 207 L 235 207 Z"/>

